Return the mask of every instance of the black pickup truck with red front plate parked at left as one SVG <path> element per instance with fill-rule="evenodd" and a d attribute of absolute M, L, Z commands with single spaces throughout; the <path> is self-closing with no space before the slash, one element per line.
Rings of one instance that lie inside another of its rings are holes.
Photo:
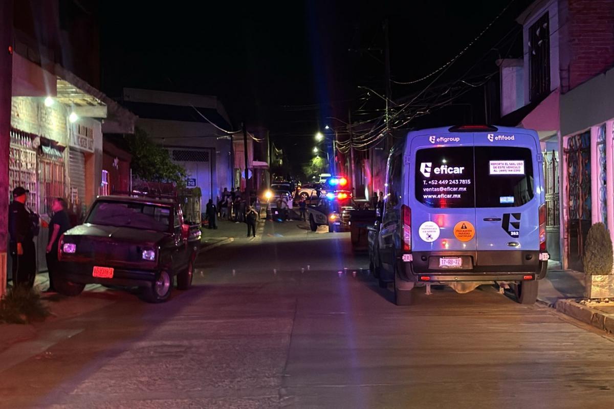
<path fill-rule="evenodd" d="M 86 284 L 139 287 L 147 302 L 168 300 L 192 285 L 200 226 L 184 221 L 171 198 L 99 196 L 85 223 L 60 238 L 54 286 L 67 296 Z"/>

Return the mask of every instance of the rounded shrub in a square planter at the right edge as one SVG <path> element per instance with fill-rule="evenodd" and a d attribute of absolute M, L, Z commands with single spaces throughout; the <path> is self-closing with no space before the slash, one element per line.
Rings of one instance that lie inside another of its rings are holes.
<path fill-rule="evenodd" d="M 586 297 L 614 297 L 612 239 L 604 223 L 595 223 L 588 231 L 584 254 Z"/>

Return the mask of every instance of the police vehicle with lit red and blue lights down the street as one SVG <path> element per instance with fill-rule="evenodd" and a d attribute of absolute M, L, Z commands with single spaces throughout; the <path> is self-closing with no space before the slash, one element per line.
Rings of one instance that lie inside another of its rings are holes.
<path fill-rule="evenodd" d="M 316 197 L 313 197 L 314 203 Z M 348 226 L 348 210 L 354 209 L 352 193 L 347 190 L 329 191 L 317 199 L 317 204 L 306 207 L 311 231 L 317 226 L 328 226 L 328 232 L 343 231 Z"/>

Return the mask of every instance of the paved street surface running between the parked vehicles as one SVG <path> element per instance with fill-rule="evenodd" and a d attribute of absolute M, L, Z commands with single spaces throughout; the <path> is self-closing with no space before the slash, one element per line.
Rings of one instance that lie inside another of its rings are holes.
<path fill-rule="evenodd" d="M 112 302 L 0 354 L 0 407 L 614 407 L 608 335 L 489 287 L 396 307 L 348 234 L 243 226 L 166 304 L 84 293 Z"/>

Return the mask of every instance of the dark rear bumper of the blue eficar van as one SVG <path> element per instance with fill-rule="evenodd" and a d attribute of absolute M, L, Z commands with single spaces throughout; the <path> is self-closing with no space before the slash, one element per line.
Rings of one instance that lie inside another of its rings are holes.
<path fill-rule="evenodd" d="M 460 268 L 439 267 L 441 257 L 461 258 Z M 543 258 L 543 257 L 542 257 Z M 540 251 L 414 251 L 402 262 L 409 281 L 523 281 L 546 276 L 548 261 Z M 531 276 L 532 278 L 528 278 Z"/>

